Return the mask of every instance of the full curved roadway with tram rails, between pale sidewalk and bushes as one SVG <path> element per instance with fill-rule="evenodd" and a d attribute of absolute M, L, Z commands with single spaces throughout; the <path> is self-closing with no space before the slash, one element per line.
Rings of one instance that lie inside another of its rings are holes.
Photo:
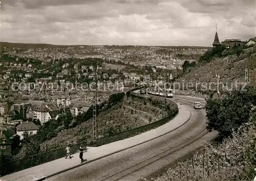
<path fill-rule="evenodd" d="M 154 96 L 153 96 L 154 97 Z M 169 101 L 175 102 L 172 98 Z M 194 110 L 193 100 L 179 98 L 178 105 L 189 107 L 190 119 L 180 128 L 133 149 L 65 172 L 48 180 L 137 180 L 199 148 L 212 135 L 205 129 L 204 111 Z M 184 135 L 184 136 L 183 136 Z M 72 176 L 73 175 L 73 176 Z"/>

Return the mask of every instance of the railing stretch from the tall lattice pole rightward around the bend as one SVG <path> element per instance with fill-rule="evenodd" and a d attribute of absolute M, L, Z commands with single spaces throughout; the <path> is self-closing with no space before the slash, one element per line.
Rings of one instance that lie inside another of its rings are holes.
<path fill-rule="evenodd" d="M 129 94 L 131 94 L 132 96 L 135 96 L 135 97 L 143 97 L 143 95 L 134 93 L 134 91 L 138 90 L 138 89 L 140 89 L 140 87 L 130 90 Z M 166 100 L 166 101 L 171 101 L 171 100 Z M 176 106 L 177 106 L 177 104 L 176 104 Z M 167 123 L 168 121 L 172 120 L 178 114 L 178 112 L 179 112 L 179 109 L 178 109 L 178 106 L 177 106 L 177 109 L 172 114 L 167 116 L 166 118 L 163 118 L 161 120 L 158 120 L 156 122 L 153 122 L 151 124 L 147 124 L 147 125 L 144 125 L 144 126 L 141 126 L 141 127 L 137 127 L 137 128 L 134 128 L 134 129 L 130 129 L 130 130 L 119 132 L 119 133 L 112 134 L 112 135 L 108 135 L 106 137 L 98 138 L 97 139 L 97 146 L 101 146 L 101 145 L 109 144 L 109 143 L 116 142 L 116 141 L 119 141 L 119 140 L 123 140 L 123 139 L 126 139 L 126 138 L 130 138 L 130 137 L 133 137 L 134 135 L 137 135 L 139 133 L 142 133 L 142 132 L 145 132 L 147 130 L 159 127 L 159 126 Z"/>

